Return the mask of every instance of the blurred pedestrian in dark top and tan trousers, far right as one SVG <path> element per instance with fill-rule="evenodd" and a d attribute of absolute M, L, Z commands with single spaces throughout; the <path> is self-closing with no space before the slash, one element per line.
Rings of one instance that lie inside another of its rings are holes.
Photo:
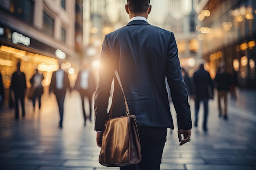
<path fill-rule="evenodd" d="M 218 73 L 214 79 L 215 86 L 218 91 L 218 108 L 219 117 L 222 116 L 221 100 L 224 102 L 224 119 L 227 120 L 227 93 L 231 90 L 232 75 L 227 73 L 225 66 L 222 65 L 219 68 Z"/>

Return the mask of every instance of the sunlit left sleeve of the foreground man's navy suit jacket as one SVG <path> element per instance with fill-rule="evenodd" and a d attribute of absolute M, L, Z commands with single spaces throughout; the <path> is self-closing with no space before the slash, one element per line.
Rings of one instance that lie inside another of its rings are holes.
<path fill-rule="evenodd" d="M 95 130 L 103 130 L 104 121 L 108 119 L 108 98 L 114 71 L 108 46 L 107 36 L 102 44 L 99 66 L 99 80 L 94 96 Z"/>

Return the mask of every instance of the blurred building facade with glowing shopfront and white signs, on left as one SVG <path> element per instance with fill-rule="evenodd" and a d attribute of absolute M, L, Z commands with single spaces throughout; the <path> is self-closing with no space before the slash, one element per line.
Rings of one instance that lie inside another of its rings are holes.
<path fill-rule="evenodd" d="M 82 9 L 82 0 L 0 0 L 0 71 L 6 89 L 19 61 L 27 81 L 38 68 L 48 86 L 58 60 L 76 78 L 83 48 Z"/>

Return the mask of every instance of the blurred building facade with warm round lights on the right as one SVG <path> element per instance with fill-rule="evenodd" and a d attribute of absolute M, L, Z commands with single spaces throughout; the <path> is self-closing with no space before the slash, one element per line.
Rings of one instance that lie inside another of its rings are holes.
<path fill-rule="evenodd" d="M 201 10 L 198 39 L 211 76 L 224 64 L 238 86 L 256 88 L 256 1 L 207 0 Z"/>

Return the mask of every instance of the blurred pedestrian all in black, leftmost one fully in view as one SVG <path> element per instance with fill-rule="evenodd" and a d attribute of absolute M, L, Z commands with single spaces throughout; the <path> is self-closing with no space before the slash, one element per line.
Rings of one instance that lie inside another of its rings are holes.
<path fill-rule="evenodd" d="M 11 76 L 10 91 L 14 93 L 14 107 L 15 107 L 15 119 L 19 119 L 19 104 L 20 101 L 22 109 L 22 117 L 25 117 L 25 105 L 24 98 L 27 89 L 25 73 L 20 71 L 20 62 L 17 63 L 17 71 Z"/>

